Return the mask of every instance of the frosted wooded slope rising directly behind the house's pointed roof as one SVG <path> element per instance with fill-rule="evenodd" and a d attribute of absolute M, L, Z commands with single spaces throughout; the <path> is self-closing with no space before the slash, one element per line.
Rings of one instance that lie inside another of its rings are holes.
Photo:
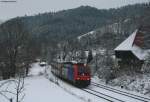
<path fill-rule="evenodd" d="M 78 36 L 80 43 L 87 49 L 104 48 L 113 50 L 120 42 L 126 39 L 135 29 L 149 25 L 149 5 L 130 5 L 114 10 L 115 22 L 99 27 L 88 33 Z M 141 13 L 140 13 L 141 12 Z M 114 15 L 112 17 L 114 17 Z M 88 43 L 88 44 L 87 44 Z"/>

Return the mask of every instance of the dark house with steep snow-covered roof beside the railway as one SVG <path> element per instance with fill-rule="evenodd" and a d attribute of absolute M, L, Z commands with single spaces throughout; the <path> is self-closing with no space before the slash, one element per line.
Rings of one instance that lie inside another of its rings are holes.
<path fill-rule="evenodd" d="M 135 30 L 115 50 L 119 68 L 140 71 L 149 55 L 150 27 Z"/>

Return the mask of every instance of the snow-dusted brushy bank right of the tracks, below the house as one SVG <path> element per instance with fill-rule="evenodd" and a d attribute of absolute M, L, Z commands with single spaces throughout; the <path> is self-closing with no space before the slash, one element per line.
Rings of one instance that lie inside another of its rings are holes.
<path fill-rule="evenodd" d="M 136 75 L 123 75 L 112 80 L 110 85 L 114 87 L 121 87 L 134 93 L 140 93 L 150 97 L 150 75 L 149 74 L 136 74 Z"/>

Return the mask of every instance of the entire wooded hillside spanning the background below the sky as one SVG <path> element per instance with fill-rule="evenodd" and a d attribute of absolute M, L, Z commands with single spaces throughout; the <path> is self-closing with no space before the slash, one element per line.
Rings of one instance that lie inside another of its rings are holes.
<path fill-rule="evenodd" d="M 34 50 L 33 54 L 45 58 L 49 52 L 53 53 L 50 55 L 56 55 L 61 50 L 88 50 L 99 47 L 112 50 L 135 28 L 150 22 L 149 10 L 149 3 L 102 10 L 81 6 L 59 12 L 18 17 L 3 25 L 13 26 L 13 23 L 7 23 L 17 20 L 23 22 L 32 38 L 29 45 Z M 94 39 L 82 39 L 80 43 L 76 41 L 78 36 L 93 30 L 98 32 Z"/>

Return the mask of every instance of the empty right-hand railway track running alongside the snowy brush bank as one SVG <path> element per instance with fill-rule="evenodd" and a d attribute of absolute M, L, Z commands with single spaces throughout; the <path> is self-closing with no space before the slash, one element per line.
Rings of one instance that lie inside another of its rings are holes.
<path fill-rule="evenodd" d="M 94 82 L 92 82 L 91 85 L 102 88 L 102 89 L 105 89 L 105 90 L 108 90 L 108 91 L 111 91 L 111 92 L 114 92 L 114 93 L 117 93 L 117 94 L 120 94 L 120 95 L 123 95 L 123 96 L 130 97 L 132 99 L 139 100 L 141 102 L 150 102 L 149 98 L 142 97 L 142 96 L 135 95 L 135 94 L 128 93 L 128 92 L 124 92 L 124 91 L 121 91 L 121 90 L 117 90 L 117 89 L 111 88 L 109 86 L 105 86 L 105 85 L 94 83 Z"/>

